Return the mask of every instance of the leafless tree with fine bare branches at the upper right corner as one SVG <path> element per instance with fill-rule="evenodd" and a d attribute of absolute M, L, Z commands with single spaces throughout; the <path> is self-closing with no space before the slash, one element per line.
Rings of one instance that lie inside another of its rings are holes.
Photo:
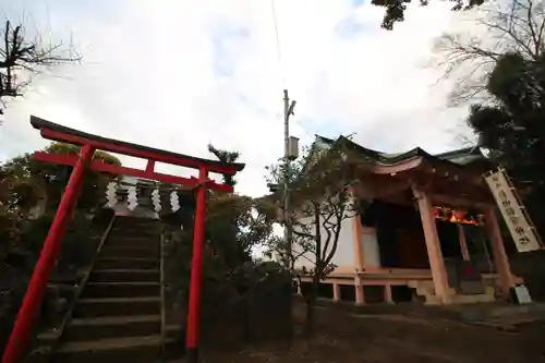
<path fill-rule="evenodd" d="M 487 4 L 475 10 L 479 34 L 446 34 L 436 43 L 444 80 L 456 81 L 450 94 L 452 106 L 488 99 L 486 84 L 498 60 L 508 52 L 537 61 L 544 51 L 545 4 L 534 0 L 513 0 L 507 7 Z"/>

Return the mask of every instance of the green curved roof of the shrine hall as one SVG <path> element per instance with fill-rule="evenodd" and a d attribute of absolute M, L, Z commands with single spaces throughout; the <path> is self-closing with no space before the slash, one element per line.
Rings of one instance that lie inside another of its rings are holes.
<path fill-rule="evenodd" d="M 479 147 L 464 147 L 447 153 L 441 154 L 429 154 L 422 149 L 421 147 L 415 147 L 404 153 L 382 153 L 377 150 L 373 150 L 366 147 L 361 146 L 360 144 L 354 143 L 346 136 L 339 136 L 337 140 L 327 138 L 324 136 L 316 135 L 316 143 L 322 145 L 331 146 L 336 143 L 341 143 L 344 147 L 352 149 L 356 153 L 361 153 L 365 157 L 374 159 L 376 162 L 380 165 L 397 165 L 402 164 L 404 161 L 411 160 L 416 157 L 422 157 L 424 159 L 428 159 L 431 161 L 440 161 L 456 165 L 458 167 L 464 167 L 474 161 L 485 160 L 486 158 L 482 154 Z"/>

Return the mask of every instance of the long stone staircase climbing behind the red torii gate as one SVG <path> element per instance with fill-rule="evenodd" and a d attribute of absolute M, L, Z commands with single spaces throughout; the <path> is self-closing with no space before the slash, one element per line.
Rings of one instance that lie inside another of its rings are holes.
<path fill-rule="evenodd" d="M 161 343 L 159 222 L 117 217 L 51 361 L 157 362 Z"/>

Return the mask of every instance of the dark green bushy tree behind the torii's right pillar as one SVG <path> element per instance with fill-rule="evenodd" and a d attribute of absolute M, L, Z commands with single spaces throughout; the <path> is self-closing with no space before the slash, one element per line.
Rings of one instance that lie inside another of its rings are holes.
<path fill-rule="evenodd" d="M 225 162 L 234 162 L 240 156 L 239 153 L 220 150 L 211 145 L 209 150 Z M 225 182 L 233 185 L 235 180 L 232 176 L 227 176 Z M 187 214 L 193 215 L 194 209 L 187 207 L 187 204 L 194 204 L 194 196 L 193 199 L 186 196 L 184 203 L 180 203 Z M 180 230 L 179 225 L 182 219 L 185 222 Z M 175 227 L 166 226 L 165 235 L 168 304 L 172 305 L 177 319 L 184 325 L 193 247 L 193 221 L 190 220 L 192 218 L 182 219 L 172 219 L 170 225 Z M 278 264 L 255 262 L 252 258 L 253 249 L 264 244 L 272 235 L 272 222 L 274 220 L 259 208 L 258 201 L 252 197 L 208 192 L 202 303 L 203 330 L 206 337 L 209 337 L 211 330 L 220 329 L 219 322 L 229 316 L 232 318 L 233 314 L 237 316 L 233 319 L 237 326 L 233 327 L 233 323 L 230 323 L 230 337 L 227 339 L 237 336 L 237 329 L 241 326 L 246 337 L 250 337 L 252 326 L 263 330 L 263 320 L 256 322 L 252 318 L 255 311 L 259 311 L 263 306 L 267 308 L 270 306 L 266 312 L 267 315 L 281 320 L 281 316 L 275 312 L 284 306 L 282 302 L 290 299 L 289 276 Z M 218 301 L 221 304 L 218 304 Z M 289 311 L 284 308 L 283 312 Z"/>

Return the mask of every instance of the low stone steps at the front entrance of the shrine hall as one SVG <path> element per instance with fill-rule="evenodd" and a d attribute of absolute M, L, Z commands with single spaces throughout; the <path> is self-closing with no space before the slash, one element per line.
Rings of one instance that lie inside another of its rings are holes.
<path fill-rule="evenodd" d="M 434 281 L 432 280 L 409 281 L 409 287 L 416 290 L 416 294 L 419 297 L 422 297 L 426 305 L 440 304 L 439 299 L 435 294 Z M 495 289 L 492 286 L 485 286 L 484 293 L 477 293 L 477 294 L 458 294 L 456 289 L 449 288 L 449 295 L 453 304 L 473 304 L 482 302 L 493 302 L 496 300 Z"/>

